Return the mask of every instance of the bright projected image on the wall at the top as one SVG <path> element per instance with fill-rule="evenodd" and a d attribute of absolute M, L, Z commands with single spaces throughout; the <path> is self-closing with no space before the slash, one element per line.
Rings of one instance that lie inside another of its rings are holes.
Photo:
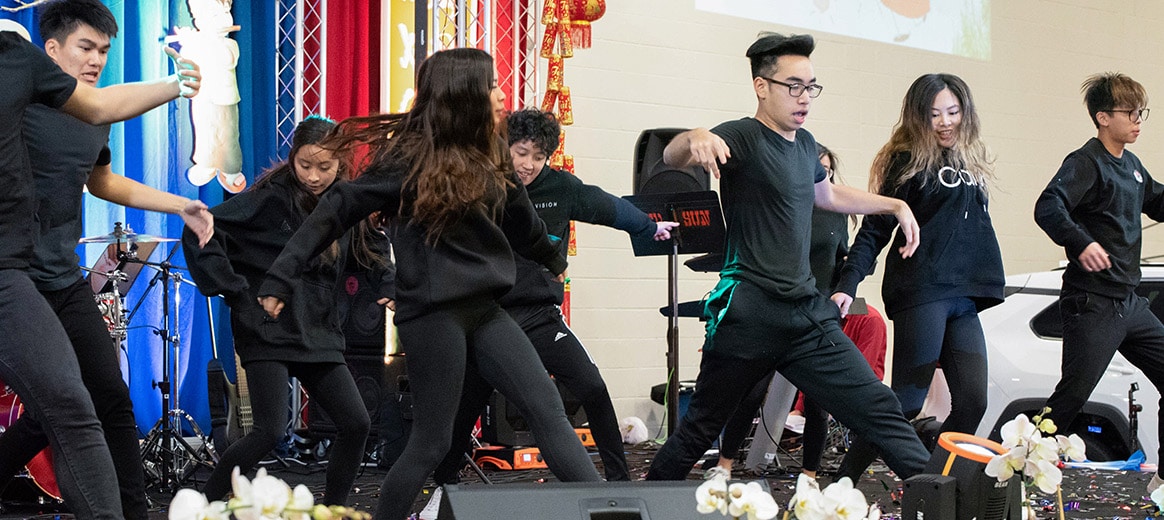
<path fill-rule="evenodd" d="M 695 8 L 968 58 L 991 58 L 991 0 L 695 0 Z"/>

